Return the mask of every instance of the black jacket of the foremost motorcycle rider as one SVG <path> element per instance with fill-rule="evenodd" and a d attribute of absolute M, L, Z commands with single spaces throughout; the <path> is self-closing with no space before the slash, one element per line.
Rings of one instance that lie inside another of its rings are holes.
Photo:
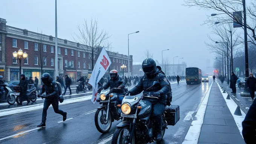
<path fill-rule="evenodd" d="M 158 81 L 160 83 L 160 86 L 155 88 L 154 90 L 146 91 L 146 89 L 148 89 L 149 87 L 151 87 L 153 85 L 154 81 Z M 145 75 L 142 76 L 139 83 L 133 89 L 131 89 L 129 92 L 131 93 L 131 95 L 137 95 L 137 94 L 141 93 L 142 91 L 143 91 L 143 93 L 160 92 L 161 93 L 160 99 L 155 100 L 152 98 L 145 98 L 145 100 L 150 101 L 150 102 L 155 102 L 155 103 L 159 102 L 161 104 L 166 104 L 166 99 L 167 99 L 166 94 L 170 92 L 170 88 L 171 88 L 170 84 L 167 81 L 165 75 L 162 74 L 161 71 L 159 71 L 157 69 L 153 78 L 148 78 Z"/>

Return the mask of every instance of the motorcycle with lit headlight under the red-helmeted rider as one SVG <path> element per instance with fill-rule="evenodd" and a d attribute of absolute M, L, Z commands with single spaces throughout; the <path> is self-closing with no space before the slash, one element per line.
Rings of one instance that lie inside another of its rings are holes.
<path fill-rule="evenodd" d="M 102 104 L 95 113 L 94 122 L 97 130 L 106 133 L 110 130 L 112 122 L 120 119 L 120 108 L 117 107 L 118 96 L 122 89 L 113 88 L 102 90 L 96 102 Z"/>

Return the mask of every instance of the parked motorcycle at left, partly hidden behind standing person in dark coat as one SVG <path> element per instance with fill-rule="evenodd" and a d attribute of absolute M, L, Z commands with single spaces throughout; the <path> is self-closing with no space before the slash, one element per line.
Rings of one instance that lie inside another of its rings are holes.
<path fill-rule="evenodd" d="M 21 95 L 20 95 L 20 92 L 21 92 L 21 89 L 20 89 L 20 86 L 14 86 L 14 91 L 15 91 L 15 95 L 17 96 L 16 97 L 16 102 L 17 104 L 20 104 L 24 101 L 27 101 L 26 99 L 23 99 L 23 101 L 21 102 Z M 37 88 L 32 88 L 32 89 L 28 89 L 27 90 L 27 99 L 29 99 L 31 102 L 35 102 L 37 101 Z"/>

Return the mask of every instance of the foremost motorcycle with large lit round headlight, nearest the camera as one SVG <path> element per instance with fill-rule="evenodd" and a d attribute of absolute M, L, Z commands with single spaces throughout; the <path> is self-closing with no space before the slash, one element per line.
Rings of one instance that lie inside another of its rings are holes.
<path fill-rule="evenodd" d="M 155 81 L 146 91 L 158 84 L 159 82 Z M 122 105 L 118 105 L 122 111 L 122 122 L 117 124 L 111 144 L 140 144 L 154 141 L 154 126 L 151 120 L 152 104 L 149 101 L 143 100 L 144 97 L 158 99 L 153 97 L 151 93 L 143 94 L 140 98 L 125 96 Z M 165 120 L 165 114 L 162 115 L 162 119 L 163 138 L 168 125 Z"/>

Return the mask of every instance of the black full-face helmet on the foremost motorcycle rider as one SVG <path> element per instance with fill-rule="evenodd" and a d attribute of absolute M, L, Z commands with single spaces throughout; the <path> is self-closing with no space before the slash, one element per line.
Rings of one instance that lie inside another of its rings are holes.
<path fill-rule="evenodd" d="M 156 65 L 155 61 L 152 58 L 146 58 L 142 62 L 142 69 L 143 69 L 144 74 L 148 78 L 150 78 L 150 77 L 152 77 L 152 75 L 155 74 L 155 71 L 157 69 L 157 65 Z"/>

